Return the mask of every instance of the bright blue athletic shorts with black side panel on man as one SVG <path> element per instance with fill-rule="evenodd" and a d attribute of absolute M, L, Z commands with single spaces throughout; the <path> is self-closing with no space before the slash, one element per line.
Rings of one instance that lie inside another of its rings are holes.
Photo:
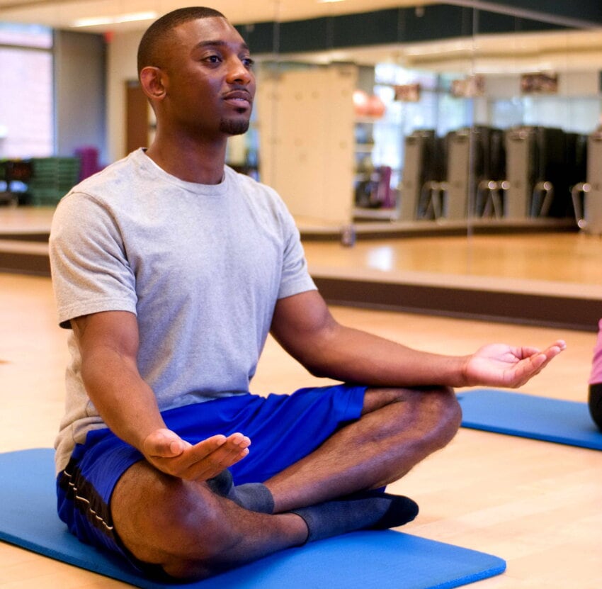
<path fill-rule="evenodd" d="M 214 434 L 241 432 L 251 438 L 249 455 L 229 469 L 239 485 L 266 481 L 358 419 L 364 393 L 364 386 L 351 385 L 302 388 L 292 395 L 268 397 L 248 393 L 178 407 L 162 415 L 166 426 L 191 444 Z M 284 442 L 275 444 L 275 440 Z M 119 478 L 143 459 L 110 430 L 92 430 L 57 476 L 58 512 L 81 542 L 116 552 L 138 570 L 154 573 L 154 567 L 137 561 L 120 542 L 109 507 Z"/>

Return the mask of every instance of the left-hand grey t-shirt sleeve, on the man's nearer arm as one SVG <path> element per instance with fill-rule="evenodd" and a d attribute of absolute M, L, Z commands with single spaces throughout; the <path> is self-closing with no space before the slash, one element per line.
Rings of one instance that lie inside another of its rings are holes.
<path fill-rule="evenodd" d="M 108 310 L 136 313 L 135 276 L 110 212 L 85 193 L 59 203 L 50 231 L 50 268 L 59 325 Z"/>

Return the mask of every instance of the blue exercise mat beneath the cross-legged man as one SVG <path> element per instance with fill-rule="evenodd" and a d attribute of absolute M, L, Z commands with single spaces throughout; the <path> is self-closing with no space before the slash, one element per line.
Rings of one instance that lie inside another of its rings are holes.
<path fill-rule="evenodd" d="M 196 583 L 161 584 L 81 544 L 56 515 L 51 449 L 0 454 L 0 539 L 144 589 L 446 589 L 499 575 L 496 556 L 386 530 L 268 556 Z"/>

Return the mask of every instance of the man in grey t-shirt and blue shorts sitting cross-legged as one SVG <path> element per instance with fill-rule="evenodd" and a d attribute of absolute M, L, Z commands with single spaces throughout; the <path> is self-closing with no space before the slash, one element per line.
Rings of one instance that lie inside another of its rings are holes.
<path fill-rule="evenodd" d="M 82 541 L 179 579 L 408 522 L 416 504 L 379 488 L 452 439 L 450 387 L 520 386 L 564 342 L 450 357 L 339 325 L 280 198 L 225 167 L 255 92 L 237 30 L 212 9 L 174 11 L 138 65 L 154 142 L 76 186 L 52 226 L 72 327 L 59 515 Z M 252 396 L 270 331 L 313 374 L 350 384 Z"/>

